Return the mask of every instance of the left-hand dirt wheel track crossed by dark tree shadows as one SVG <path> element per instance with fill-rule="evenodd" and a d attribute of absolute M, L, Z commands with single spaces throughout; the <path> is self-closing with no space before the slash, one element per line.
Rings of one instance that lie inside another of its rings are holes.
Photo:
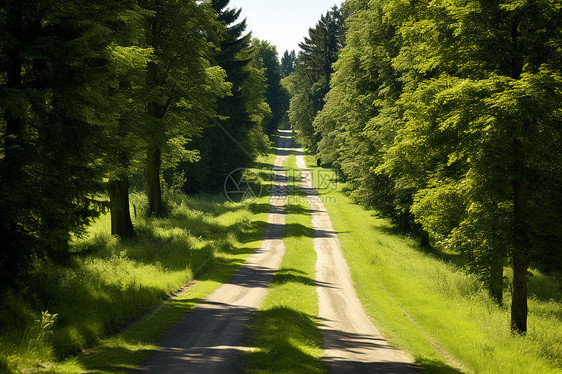
<path fill-rule="evenodd" d="M 135 373 L 224 374 L 239 371 L 245 325 L 258 309 L 285 245 L 287 177 L 283 162 L 291 152 L 290 132 L 281 132 L 275 161 L 275 183 L 270 199 L 268 227 L 262 247 L 238 274 L 220 286 L 186 318 L 176 324 L 154 353 Z"/>

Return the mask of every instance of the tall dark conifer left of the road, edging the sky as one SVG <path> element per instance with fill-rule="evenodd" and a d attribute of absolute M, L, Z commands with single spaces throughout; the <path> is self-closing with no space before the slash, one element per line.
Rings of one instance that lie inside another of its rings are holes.
<path fill-rule="evenodd" d="M 228 8 L 229 0 L 212 1 L 221 24 L 213 40 L 220 51 L 216 63 L 232 84 L 231 95 L 219 100 L 218 118 L 190 146 L 200 150 L 200 161 L 184 164 L 186 191 L 217 190 L 228 174 L 251 165 L 255 156 L 268 149 L 262 123 L 270 113 L 265 102 L 265 77 L 261 64 L 253 64 L 251 34 L 246 20 L 238 22 L 240 9 Z"/>

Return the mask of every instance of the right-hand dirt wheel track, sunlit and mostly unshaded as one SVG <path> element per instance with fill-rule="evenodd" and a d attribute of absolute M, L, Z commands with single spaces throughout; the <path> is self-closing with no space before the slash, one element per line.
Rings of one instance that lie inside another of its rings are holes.
<path fill-rule="evenodd" d="M 312 213 L 313 242 L 318 256 L 316 281 L 323 285 L 316 288 L 319 320 L 324 360 L 330 372 L 415 373 L 411 359 L 388 344 L 359 302 L 340 242 L 315 192 L 302 150 L 297 150 L 297 166 L 301 169 L 302 185 Z"/>

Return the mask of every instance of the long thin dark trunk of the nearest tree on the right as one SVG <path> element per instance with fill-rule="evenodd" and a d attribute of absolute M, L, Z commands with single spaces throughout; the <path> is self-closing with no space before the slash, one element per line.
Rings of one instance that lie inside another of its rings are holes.
<path fill-rule="evenodd" d="M 511 302 L 511 331 L 524 334 L 527 331 L 527 269 L 529 239 L 527 235 L 527 180 L 525 177 L 525 145 L 522 140 L 514 143 L 516 178 L 513 182 L 513 298 Z"/>

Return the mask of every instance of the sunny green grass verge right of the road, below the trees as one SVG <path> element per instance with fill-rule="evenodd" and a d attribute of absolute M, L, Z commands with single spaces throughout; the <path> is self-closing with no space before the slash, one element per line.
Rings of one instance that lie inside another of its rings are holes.
<path fill-rule="evenodd" d="M 318 170 L 311 158 L 307 163 Z M 509 292 L 506 306 L 497 306 L 475 275 L 420 250 L 389 221 L 355 205 L 341 187 L 320 189 L 320 195 L 357 293 L 391 343 L 431 373 L 562 372 L 559 282 L 534 272 L 529 332 L 526 337 L 513 336 Z"/>

